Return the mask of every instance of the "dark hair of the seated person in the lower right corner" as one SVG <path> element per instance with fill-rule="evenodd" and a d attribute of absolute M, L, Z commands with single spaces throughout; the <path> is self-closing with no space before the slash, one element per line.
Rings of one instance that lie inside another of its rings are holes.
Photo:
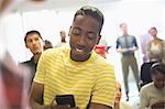
<path fill-rule="evenodd" d="M 152 75 L 155 75 L 155 73 L 160 72 L 165 76 L 165 65 L 163 63 L 154 63 L 150 69 Z"/>

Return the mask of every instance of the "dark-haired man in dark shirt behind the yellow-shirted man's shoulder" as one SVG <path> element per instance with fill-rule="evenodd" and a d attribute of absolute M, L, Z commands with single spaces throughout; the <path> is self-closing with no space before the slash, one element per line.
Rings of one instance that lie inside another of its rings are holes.
<path fill-rule="evenodd" d="M 30 68 L 30 72 L 31 72 L 30 81 L 32 84 L 35 72 L 36 72 L 36 65 L 41 56 L 41 53 L 43 51 L 41 33 L 35 30 L 29 31 L 25 34 L 24 43 L 25 43 L 26 48 L 30 48 L 30 51 L 32 52 L 33 57 L 30 61 L 23 62 L 21 64 Z"/>

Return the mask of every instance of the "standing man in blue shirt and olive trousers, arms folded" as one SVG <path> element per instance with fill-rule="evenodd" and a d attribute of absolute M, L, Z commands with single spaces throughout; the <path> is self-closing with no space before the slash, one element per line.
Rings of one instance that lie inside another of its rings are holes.
<path fill-rule="evenodd" d="M 128 34 L 128 24 L 121 23 L 120 29 L 123 32 L 123 35 L 118 37 L 117 40 L 117 52 L 122 54 L 121 64 L 123 72 L 123 80 L 127 92 L 127 100 L 129 100 L 129 86 L 128 86 L 128 77 L 129 77 L 129 67 L 132 68 L 133 75 L 135 77 L 136 86 L 139 88 L 139 68 L 136 58 L 134 56 L 134 52 L 138 50 L 138 43 L 135 36 Z"/>

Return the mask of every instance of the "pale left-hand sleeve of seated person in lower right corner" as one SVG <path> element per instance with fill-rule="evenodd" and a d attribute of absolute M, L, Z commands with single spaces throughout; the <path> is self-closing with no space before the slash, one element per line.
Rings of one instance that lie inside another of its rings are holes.
<path fill-rule="evenodd" d="M 145 88 L 141 89 L 141 109 L 150 109 Z"/>

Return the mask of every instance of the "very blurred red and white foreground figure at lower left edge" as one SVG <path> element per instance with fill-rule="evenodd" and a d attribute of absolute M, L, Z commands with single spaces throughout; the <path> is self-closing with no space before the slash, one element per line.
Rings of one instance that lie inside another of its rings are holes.
<path fill-rule="evenodd" d="M 9 53 L 0 59 L 0 109 L 30 109 L 28 68 L 13 62 Z"/>

